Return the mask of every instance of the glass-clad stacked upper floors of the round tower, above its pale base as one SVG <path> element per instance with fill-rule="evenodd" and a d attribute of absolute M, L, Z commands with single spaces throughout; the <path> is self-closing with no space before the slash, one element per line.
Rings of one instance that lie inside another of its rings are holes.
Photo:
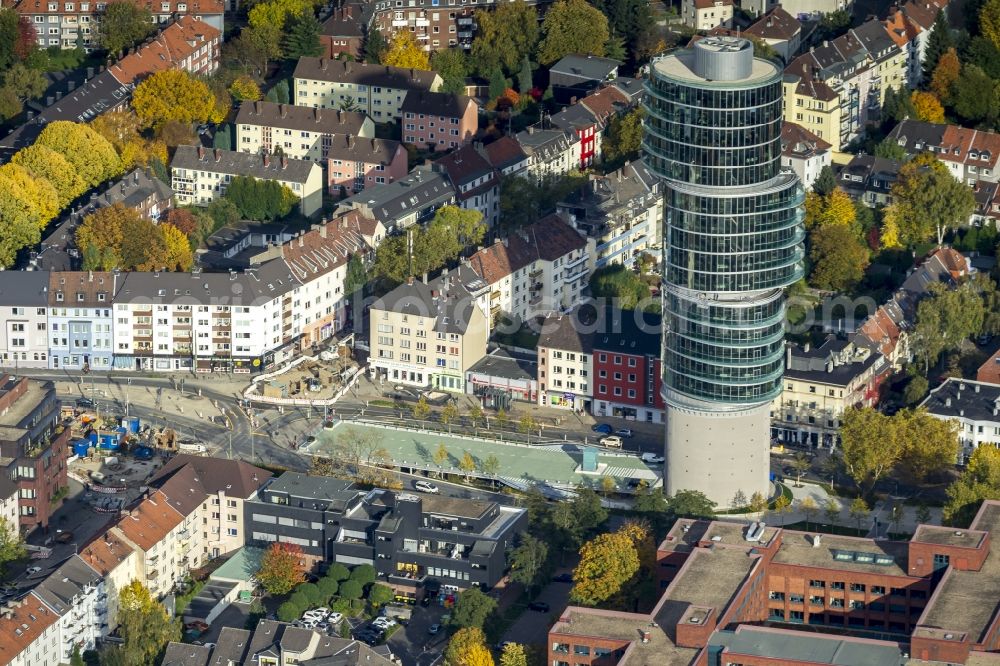
<path fill-rule="evenodd" d="M 741 42 L 718 43 L 746 56 L 745 75 L 708 80 L 695 55 L 714 54 L 680 51 L 653 63 L 646 87 L 646 164 L 667 185 L 668 403 L 753 405 L 781 392 L 781 289 L 802 277 L 804 195 L 781 171 L 781 70 L 748 65 L 752 51 L 731 47 Z"/>

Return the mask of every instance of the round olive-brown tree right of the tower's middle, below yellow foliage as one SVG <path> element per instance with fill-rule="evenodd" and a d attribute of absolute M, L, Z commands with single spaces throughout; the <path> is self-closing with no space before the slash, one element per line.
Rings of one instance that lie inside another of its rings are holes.
<path fill-rule="evenodd" d="M 813 229 L 809 240 L 812 261 L 809 281 L 814 287 L 845 292 L 864 278 L 869 250 L 854 229 L 839 224 L 826 225 Z"/>

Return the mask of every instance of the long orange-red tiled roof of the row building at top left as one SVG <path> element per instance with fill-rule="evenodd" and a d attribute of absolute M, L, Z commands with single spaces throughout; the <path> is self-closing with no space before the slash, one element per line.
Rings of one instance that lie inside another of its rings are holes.
<path fill-rule="evenodd" d="M 155 72 L 177 69 L 185 58 L 220 36 L 218 30 L 204 21 L 181 16 L 151 42 L 112 65 L 111 74 L 125 84 Z"/>

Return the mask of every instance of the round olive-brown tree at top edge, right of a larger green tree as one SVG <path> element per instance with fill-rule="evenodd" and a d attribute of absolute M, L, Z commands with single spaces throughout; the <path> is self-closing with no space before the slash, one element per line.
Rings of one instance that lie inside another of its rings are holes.
<path fill-rule="evenodd" d="M 551 65 L 572 53 L 604 55 L 608 19 L 586 0 L 556 0 L 542 21 L 538 61 Z"/>

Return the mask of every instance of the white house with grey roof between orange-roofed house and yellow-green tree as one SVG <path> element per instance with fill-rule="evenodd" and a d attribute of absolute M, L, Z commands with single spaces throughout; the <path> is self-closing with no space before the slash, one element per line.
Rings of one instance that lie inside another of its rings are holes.
<path fill-rule="evenodd" d="M 107 635 L 107 609 L 100 598 L 107 596 L 108 589 L 104 578 L 79 555 L 63 561 L 32 594 L 59 617 L 58 658 L 53 663 L 71 663 L 74 648 L 81 653 L 95 650 L 97 642 Z"/>

